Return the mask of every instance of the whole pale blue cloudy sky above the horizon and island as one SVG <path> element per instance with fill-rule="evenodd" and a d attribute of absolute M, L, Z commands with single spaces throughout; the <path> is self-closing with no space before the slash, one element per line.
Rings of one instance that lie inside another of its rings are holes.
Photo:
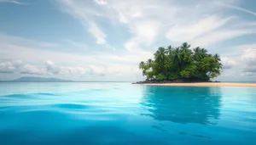
<path fill-rule="evenodd" d="M 256 81 L 254 0 L 0 0 L 0 80 L 140 81 L 157 47 L 219 53 L 219 81 Z M 254 6 L 254 8 L 253 8 Z"/>

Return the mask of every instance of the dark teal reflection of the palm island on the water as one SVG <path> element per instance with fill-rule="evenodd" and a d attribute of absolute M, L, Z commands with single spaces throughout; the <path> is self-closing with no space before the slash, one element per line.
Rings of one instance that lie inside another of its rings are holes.
<path fill-rule="evenodd" d="M 221 88 L 145 86 L 142 105 L 154 120 L 216 125 L 220 116 Z"/>

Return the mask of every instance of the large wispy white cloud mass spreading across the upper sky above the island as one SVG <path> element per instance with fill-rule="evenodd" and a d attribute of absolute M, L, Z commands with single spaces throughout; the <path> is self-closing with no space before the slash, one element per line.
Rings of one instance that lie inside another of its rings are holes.
<path fill-rule="evenodd" d="M 97 25 L 95 29 L 90 29 L 90 33 L 99 44 L 106 42 L 106 34 L 98 29 L 102 21 L 111 20 L 114 24 L 126 25 L 132 36 L 124 47 L 131 52 L 152 49 L 150 47 L 166 38 L 174 43 L 193 42 L 207 47 L 256 31 L 244 27 L 230 29 L 242 20 L 237 16 L 225 15 L 227 7 L 224 6 L 236 5 L 236 0 L 95 0 L 95 3 L 65 0 L 60 4 L 75 18 L 89 22 L 89 28 Z M 111 37 L 111 34 L 108 36 Z"/>

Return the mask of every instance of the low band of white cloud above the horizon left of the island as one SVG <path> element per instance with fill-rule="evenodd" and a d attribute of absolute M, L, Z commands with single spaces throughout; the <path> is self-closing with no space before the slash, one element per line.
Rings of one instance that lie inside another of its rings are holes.
<path fill-rule="evenodd" d="M 34 42 L 14 36 L 3 36 L 5 41 L 0 42 L 0 53 L 5 60 L 22 60 L 20 69 L 14 68 L 13 63 L 4 61 L 0 65 L 0 71 L 11 71 L 20 75 L 43 75 L 67 77 L 74 80 L 104 80 L 106 81 L 128 81 L 141 80 L 141 72 L 138 70 L 137 62 L 148 59 L 148 55 L 142 53 L 65 53 L 56 52 L 61 50 L 61 45 L 49 45 L 51 49 L 45 49 L 45 42 Z M 20 40 L 17 42 L 16 40 Z M 72 45 L 71 45 L 72 46 Z M 73 45 L 73 49 L 75 49 Z M 80 45 L 78 46 L 80 47 Z"/>

